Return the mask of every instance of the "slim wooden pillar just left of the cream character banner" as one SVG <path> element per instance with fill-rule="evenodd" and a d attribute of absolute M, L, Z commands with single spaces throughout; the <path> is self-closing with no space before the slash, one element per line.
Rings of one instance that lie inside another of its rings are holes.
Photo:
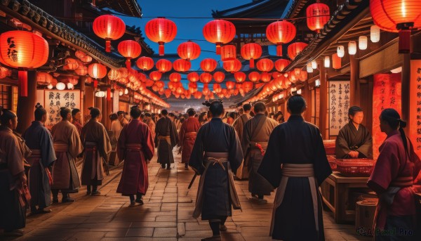
<path fill-rule="evenodd" d="M 326 68 L 322 63 L 319 64 L 320 68 L 320 117 L 319 129 L 323 139 L 328 138 L 327 124 L 328 124 L 328 82 L 326 78 Z"/>

